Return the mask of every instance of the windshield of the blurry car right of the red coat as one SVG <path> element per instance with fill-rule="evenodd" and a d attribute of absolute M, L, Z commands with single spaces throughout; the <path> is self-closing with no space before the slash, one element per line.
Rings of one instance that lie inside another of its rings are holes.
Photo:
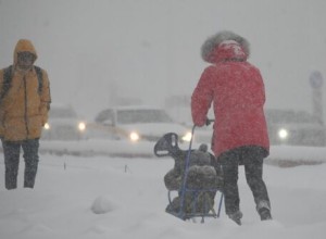
<path fill-rule="evenodd" d="M 279 123 L 316 123 L 316 118 L 303 111 L 266 111 L 267 122 Z"/>

